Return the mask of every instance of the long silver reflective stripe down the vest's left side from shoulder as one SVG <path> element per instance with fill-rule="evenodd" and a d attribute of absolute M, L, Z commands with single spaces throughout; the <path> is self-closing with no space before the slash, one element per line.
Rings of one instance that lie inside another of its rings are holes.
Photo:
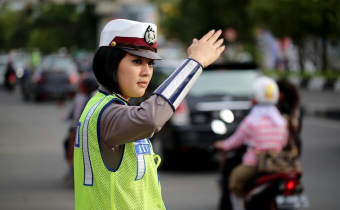
<path fill-rule="evenodd" d="M 87 139 L 87 127 L 88 127 L 88 121 L 91 118 L 94 110 L 97 108 L 97 106 L 100 104 L 100 102 L 103 99 L 101 99 L 99 102 L 94 104 L 91 109 L 88 111 L 84 126 L 82 127 L 82 156 L 84 158 L 84 185 L 93 185 L 93 174 L 92 174 L 92 168 L 91 168 L 91 161 L 89 159 L 88 154 L 88 139 Z"/>

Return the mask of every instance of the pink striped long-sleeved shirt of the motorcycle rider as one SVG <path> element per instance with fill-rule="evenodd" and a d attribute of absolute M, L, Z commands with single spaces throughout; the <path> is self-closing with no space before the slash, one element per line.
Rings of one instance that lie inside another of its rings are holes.
<path fill-rule="evenodd" d="M 282 117 L 283 118 L 283 117 Z M 243 165 L 256 165 L 257 151 L 281 151 L 287 143 L 288 129 L 286 123 L 275 124 L 269 117 L 263 116 L 256 124 L 249 121 L 249 115 L 239 124 L 235 133 L 224 140 L 224 149 L 232 150 L 246 145 Z"/>

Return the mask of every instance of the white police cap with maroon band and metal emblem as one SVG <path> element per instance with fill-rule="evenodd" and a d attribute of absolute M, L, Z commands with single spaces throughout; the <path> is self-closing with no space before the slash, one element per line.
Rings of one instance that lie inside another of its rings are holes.
<path fill-rule="evenodd" d="M 109 21 L 100 33 L 99 47 L 119 47 L 126 52 L 160 60 L 157 54 L 157 26 L 127 19 Z"/>

